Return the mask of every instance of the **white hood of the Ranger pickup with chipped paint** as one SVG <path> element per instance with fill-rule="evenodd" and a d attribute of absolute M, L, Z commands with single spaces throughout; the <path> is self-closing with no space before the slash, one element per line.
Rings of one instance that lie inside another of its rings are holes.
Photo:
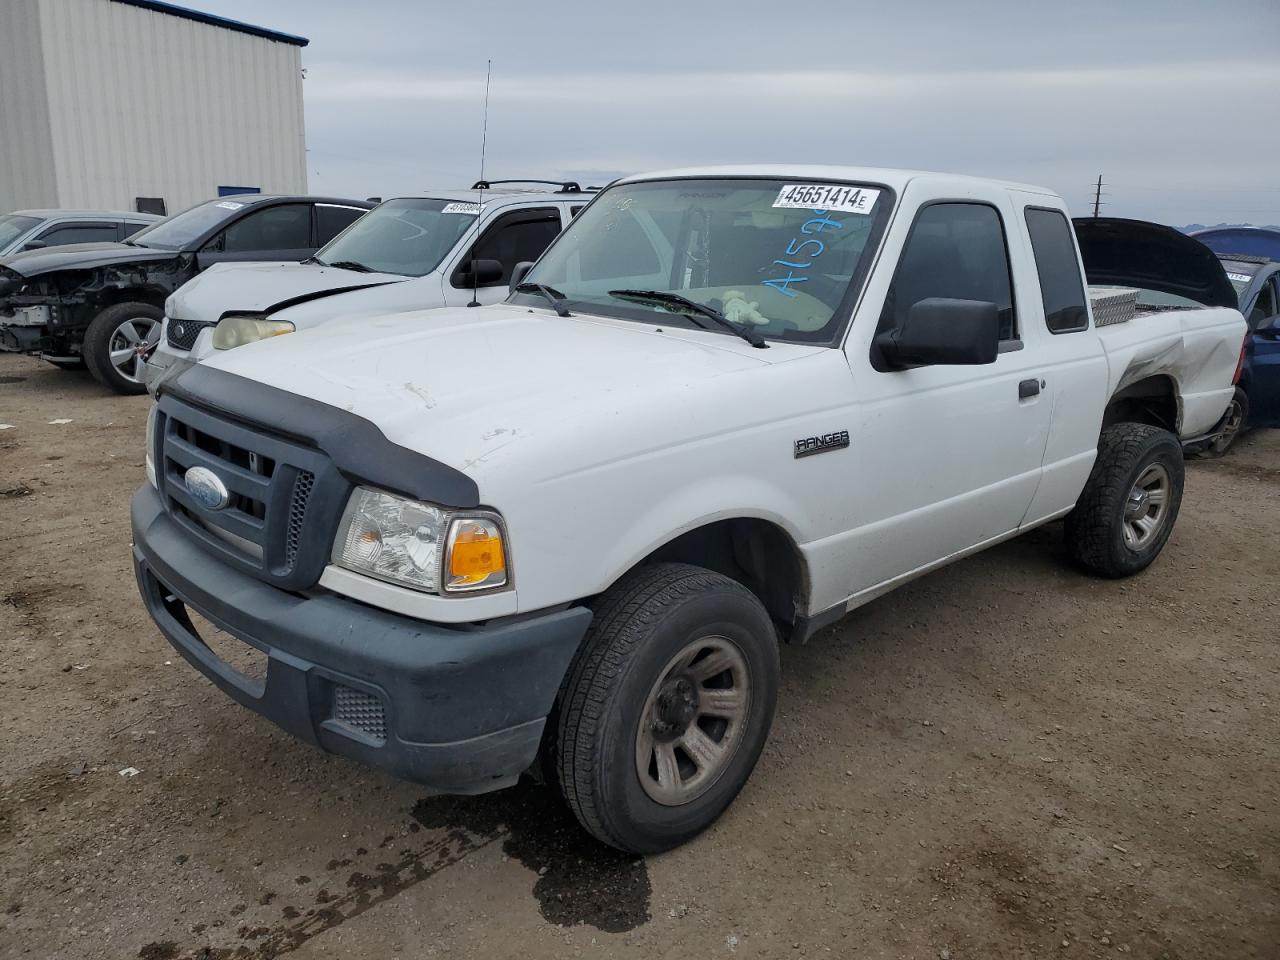
<path fill-rule="evenodd" d="M 838 357 L 847 376 L 840 351 L 823 347 L 754 349 L 727 334 L 497 305 L 337 320 L 200 366 L 351 411 L 477 477 L 536 480 L 625 457 L 636 424 L 663 424 L 678 443 L 712 420 L 742 429 L 786 416 L 777 407 L 791 399 L 759 404 L 751 374 L 817 352 Z M 792 399 L 812 402 L 803 389 Z"/>

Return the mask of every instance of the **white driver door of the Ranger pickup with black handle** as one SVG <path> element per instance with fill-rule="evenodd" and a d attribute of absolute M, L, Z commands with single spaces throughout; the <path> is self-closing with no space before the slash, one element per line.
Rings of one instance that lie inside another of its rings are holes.
<path fill-rule="evenodd" d="M 906 230 L 902 255 L 892 279 L 867 291 L 877 316 L 858 317 L 846 343 L 860 399 L 850 433 L 863 445 L 849 477 L 854 527 L 837 558 L 851 596 L 1016 531 L 1041 481 L 1053 384 L 1036 266 L 1009 195 L 973 193 L 925 204 L 891 228 L 891 250 Z M 890 369 L 878 360 L 874 335 L 931 297 L 996 303 L 993 364 Z"/>

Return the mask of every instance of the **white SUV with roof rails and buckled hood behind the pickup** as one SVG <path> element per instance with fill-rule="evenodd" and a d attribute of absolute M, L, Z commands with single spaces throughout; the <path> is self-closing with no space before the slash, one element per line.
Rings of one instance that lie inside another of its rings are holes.
<path fill-rule="evenodd" d="M 216 265 L 165 302 L 147 381 L 154 388 L 218 349 L 337 317 L 498 303 L 516 266 L 538 260 L 593 189 L 477 180 L 384 201 L 300 264 Z"/>

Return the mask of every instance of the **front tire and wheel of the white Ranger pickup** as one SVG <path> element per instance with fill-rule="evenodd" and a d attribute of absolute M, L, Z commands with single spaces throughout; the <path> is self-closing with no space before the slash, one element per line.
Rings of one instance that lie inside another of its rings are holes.
<path fill-rule="evenodd" d="M 553 758 L 561 792 L 611 846 L 678 846 L 742 788 L 777 690 L 777 634 L 754 594 L 701 567 L 644 567 L 596 603 L 570 667 Z"/>

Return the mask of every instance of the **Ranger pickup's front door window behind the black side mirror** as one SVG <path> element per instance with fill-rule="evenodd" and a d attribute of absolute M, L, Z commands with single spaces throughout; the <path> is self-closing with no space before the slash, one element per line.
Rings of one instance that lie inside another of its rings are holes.
<path fill-rule="evenodd" d="M 901 326 L 911 307 L 931 297 L 993 302 L 1000 311 L 1000 339 L 1018 339 L 1009 244 L 993 206 L 947 201 L 920 210 L 878 329 Z"/>

